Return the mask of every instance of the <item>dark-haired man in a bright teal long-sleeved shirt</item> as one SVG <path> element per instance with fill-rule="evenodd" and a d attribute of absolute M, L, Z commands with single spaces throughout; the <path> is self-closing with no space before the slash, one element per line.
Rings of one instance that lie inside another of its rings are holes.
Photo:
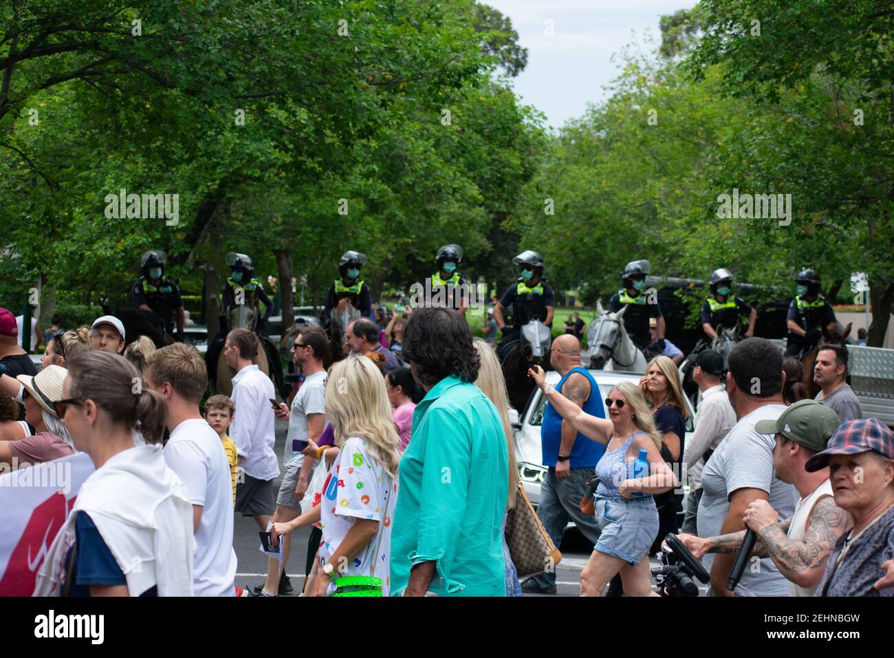
<path fill-rule="evenodd" d="M 447 308 L 414 312 L 403 331 L 403 355 L 426 397 L 401 457 L 392 594 L 505 596 L 509 455 L 496 407 L 473 383 L 472 332 Z"/>

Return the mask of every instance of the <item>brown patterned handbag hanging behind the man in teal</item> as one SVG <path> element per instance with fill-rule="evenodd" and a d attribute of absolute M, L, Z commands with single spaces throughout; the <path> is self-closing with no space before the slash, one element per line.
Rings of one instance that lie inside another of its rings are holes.
<path fill-rule="evenodd" d="M 506 544 L 519 578 L 543 573 L 547 567 L 555 568 L 561 561 L 561 552 L 546 534 L 536 511 L 527 500 L 522 484 L 515 494 L 515 507 L 506 518 Z"/>

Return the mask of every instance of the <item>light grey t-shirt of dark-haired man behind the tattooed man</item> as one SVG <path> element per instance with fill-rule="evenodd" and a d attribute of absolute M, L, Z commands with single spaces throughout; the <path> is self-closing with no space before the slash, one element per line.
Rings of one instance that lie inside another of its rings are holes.
<path fill-rule="evenodd" d="M 775 420 L 785 411 L 785 405 L 759 406 L 739 419 L 726 438 L 714 450 L 702 471 L 704 493 L 698 505 L 698 536 L 721 534 L 723 521 L 730 511 L 730 494 L 749 488 L 766 491 L 770 505 L 780 518 L 795 513 L 797 489 L 776 477 L 773 472 L 773 446 L 770 434 L 755 432 L 755 423 Z M 713 553 L 702 558 L 704 568 L 711 569 Z M 788 596 L 789 581 L 780 574 L 770 558 L 752 559 L 736 587 L 737 596 Z"/>

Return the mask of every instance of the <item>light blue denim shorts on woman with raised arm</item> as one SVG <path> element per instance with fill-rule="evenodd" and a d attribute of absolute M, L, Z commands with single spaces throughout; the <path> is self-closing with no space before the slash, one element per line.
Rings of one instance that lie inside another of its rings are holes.
<path fill-rule="evenodd" d="M 631 565 L 649 554 L 658 534 L 658 508 L 652 496 L 623 499 L 596 496 L 599 541 L 595 550 Z"/>

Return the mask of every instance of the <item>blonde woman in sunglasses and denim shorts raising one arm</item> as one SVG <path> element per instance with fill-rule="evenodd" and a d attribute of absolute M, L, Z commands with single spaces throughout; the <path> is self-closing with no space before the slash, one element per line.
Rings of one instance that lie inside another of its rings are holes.
<path fill-rule="evenodd" d="M 539 366 L 528 375 L 575 431 L 605 444 L 603 457 L 596 465 L 599 541 L 580 573 L 580 595 L 602 596 L 605 585 L 620 573 L 624 594 L 657 596 L 649 573 L 649 551 L 658 533 L 658 508 L 653 496 L 670 491 L 678 482 L 661 456 L 662 439 L 643 394 L 629 381 L 621 381 L 605 400 L 609 413 L 606 420 L 587 414 L 546 384 Z M 648 474 L 637 474 L 631 468 L 640 450 L 645 450 Z"/>

